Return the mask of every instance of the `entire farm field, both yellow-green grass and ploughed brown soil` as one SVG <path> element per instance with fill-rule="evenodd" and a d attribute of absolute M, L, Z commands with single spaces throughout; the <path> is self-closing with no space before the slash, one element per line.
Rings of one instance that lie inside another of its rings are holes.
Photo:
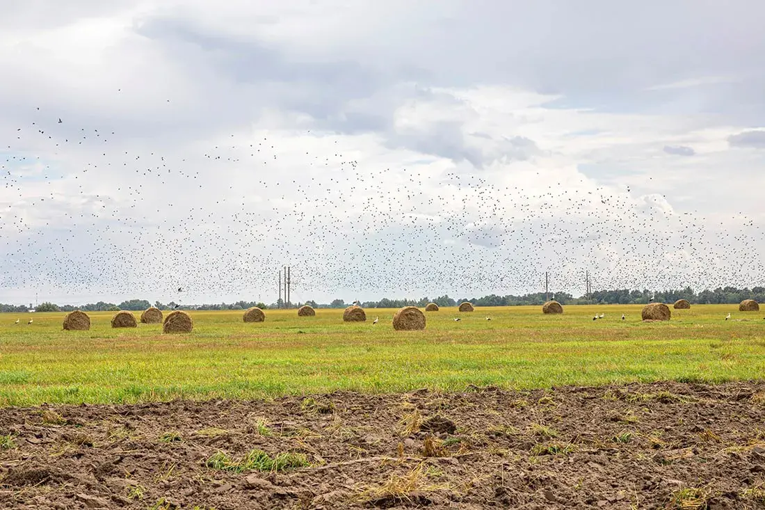
<path fill-rule="evenodd" d="M 394 312 L 190 312 L 187 335 L 0 315 L 0 506 L 765 505 L 759 313 Z"/>

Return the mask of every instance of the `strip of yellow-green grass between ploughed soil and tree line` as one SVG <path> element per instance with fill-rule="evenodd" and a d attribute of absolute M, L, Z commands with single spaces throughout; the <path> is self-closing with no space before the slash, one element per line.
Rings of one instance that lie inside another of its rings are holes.
<path fill-rule="evenodd" d="M 763 378 L 762 313 L 694 306 L 643 323 L 640 309 L 442 308 L 427 314 L 424 332 L 394 331 L 392 309 L 369 309 L 355 324 L 342 322 L 342 310 L 313 318 L 269 310 L 256 324 L 241 311 L 190 312 L 187 335 L 163 335 L 161 325 L 111 329 L 111 312 L 91 313 L 88 332 L 63 331 L 63 313 L 0 314 L 0 405 Z M 592 321 L 596 312 L 605 318 Z"/>

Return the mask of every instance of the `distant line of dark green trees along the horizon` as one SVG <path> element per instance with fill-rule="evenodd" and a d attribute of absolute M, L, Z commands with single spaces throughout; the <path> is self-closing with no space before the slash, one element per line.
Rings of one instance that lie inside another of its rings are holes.
<path fill-rule="evenodd" d="M 475 306 L 523 306 L 523 305 L 542 305 L 547 299 L 555 299 L 555 301 L 562 305 L 598 305 L 598 304 L 621 304 L 621 305 L 641 305 L 650 302 L 675 302 L 678 299 L 688 299 L 693 304 L 723 304 L 723 303 L 738 303 L 744 299 L 754 299 L 757 302 L 765 302 L 765 287 L 757 286 L 752 289 L 737 289 L 736 287 L 718 287 L 717 289 L 710 290 L 705 289 L 699 293 L 696 293 L 690 287 L 685 289 L 675 290 L 630 290 L 630 289 L 616 289 L 616 290 L 596 290 L 589 296 L 574 297 L 570 293 L 556 292 L 549 293 L 530 293 L 523 294 L 522 296 L 497 296 L 491 294 L 490 296 L 483 296 L 480 298 L 467 298 L 452 299 L 451 297 L 444 295 L 433 299 L 423 297 L 422 299 L 388 299 L 383 298 L 379 301 L 366 301 L 362 302 L 361 306 L 364 308 L 401 308 L 402 306 L 419 306 L 423 307 L 429 302 L 435 302 L 438 306 L 457 306 L 457 304 L 469 301 Z M 283 302 L 274 302 L 271 305 L 266 305 L 263 302 L 249 302 L 249 301 L 237 301 L 233 303 L 222 302 L 220 304 L 206 304 L 206 305 L 181 305 L 176 302 L 162 303 L 155 301 L 152 305 L 146 299 L 129 299 L 119 304 L 111 302 L 95 302 L 87 303 L 82 306 L 74 305 L 57 305 L 52 302 L 42 302 L 37 305 L 37 312 L 71 312 L 75 309 L 83 310 L 84 312 L 116 312 L 119 310 L 132 310 L 140 311 L 155 306 L 161 310 L 171 309 L 196 309 L 196 310 L 245 310 L 252 306 L 257 306 L 261 309 L 275 309 L 283 307 Z M 314 308 L 345 308 L 350 303 L 345 302 L 344 299 L 334 299 L 329 303 L 317 303 L 315 301 L 306 301 L 304 303 L 293 303 L 293 306 L 309 305 Z M 28 312 L 32 307 L 26 305 L 4 305 L 0 303 L 0 312 Z"/>

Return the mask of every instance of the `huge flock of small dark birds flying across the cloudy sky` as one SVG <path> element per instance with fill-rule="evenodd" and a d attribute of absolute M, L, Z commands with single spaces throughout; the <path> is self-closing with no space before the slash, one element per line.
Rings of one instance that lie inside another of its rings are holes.
<path fill-rule="evenodd" d="M 178 146 L 35 108 L 0 135 L 0 289 L 30 297 L 272 302 L 285 263 L 294 302 L 532 292 L 545 271 L 571 293 L 585 271 L 599 288 L 765 283 L 759 225 L 627 186 L 376 159 L 308 129 Z"/>

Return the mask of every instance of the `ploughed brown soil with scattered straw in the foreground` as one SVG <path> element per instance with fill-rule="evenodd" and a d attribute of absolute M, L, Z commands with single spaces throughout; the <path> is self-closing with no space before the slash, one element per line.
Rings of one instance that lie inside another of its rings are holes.
<path fill-rule="evenodd" d="M 4 408 L 0 507 L 763 508 L 763 423 L 763 382 Z M 252 449 L 311 466 L 205 465 Z"/>

